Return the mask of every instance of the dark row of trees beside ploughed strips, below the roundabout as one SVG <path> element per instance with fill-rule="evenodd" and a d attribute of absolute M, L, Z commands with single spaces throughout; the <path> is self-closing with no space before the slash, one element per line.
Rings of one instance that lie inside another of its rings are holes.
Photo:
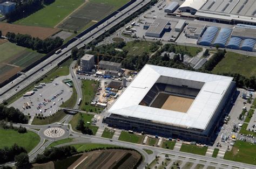
<path fill-rule="evenodd" d="M 77 150 L 73 146 L 52 147 L 45 150 L 43 154 L 37 154 L 34 162 L 48 163 L 49 161 L 65 159 L 76 153 Z"/>

